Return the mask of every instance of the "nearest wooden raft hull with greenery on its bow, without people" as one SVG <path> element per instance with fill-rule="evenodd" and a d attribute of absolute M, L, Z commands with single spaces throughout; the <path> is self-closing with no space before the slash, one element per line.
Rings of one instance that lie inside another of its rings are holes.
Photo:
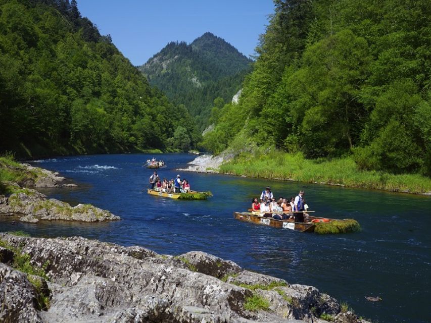
<path fill-rule="evenodd" d="M 361 230 L 359 223 L 353 219 L 337 220 L 310 216 L 305 222 L 295 222 L 293 219 L 276 220 L 273 218 L 264 218 L 263 214 L 261 216 L 260 213 L 254 212 L 234 212 L 233 217 L 236 220 L 244 222 L 300 232 L 315 232 L 318 234 L 349 233 Z"/>

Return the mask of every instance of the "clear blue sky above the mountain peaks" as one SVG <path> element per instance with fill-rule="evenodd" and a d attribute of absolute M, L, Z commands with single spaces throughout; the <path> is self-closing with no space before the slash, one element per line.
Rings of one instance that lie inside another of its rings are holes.
<path fill-rule="evenodd" d="M 254 55 L 272 0 L 77 0 L 82 17 L 110 34 L 133 65 L 142 65 L 170 41 L 192 42 L 212 32 L 245 56 Z"/>

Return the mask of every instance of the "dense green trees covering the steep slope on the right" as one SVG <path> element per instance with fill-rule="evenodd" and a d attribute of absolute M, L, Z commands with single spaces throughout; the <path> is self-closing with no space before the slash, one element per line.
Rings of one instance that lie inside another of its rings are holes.
<path fill-rule="evenodd" d="M 431 175 L 431 6 L 275 0 L 239 104 L 214 107 L 204 146 L 353 158 Z"/>

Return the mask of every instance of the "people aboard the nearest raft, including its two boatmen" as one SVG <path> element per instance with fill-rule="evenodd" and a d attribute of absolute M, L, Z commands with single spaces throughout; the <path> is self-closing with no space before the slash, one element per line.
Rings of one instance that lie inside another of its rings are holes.
<path fill-rule="evenodd" d="M 308 208 L 305 204 L 304 191 L 300 191 L 296 197 L 274 198 L 269 186 L 260 195 L 260 202 L 257 197 L 252 200 L 252 211 L 263 214 L 265 218 L 276 220 L 295 219 L 295 222 L 304 222 L 304 211 Z M 308 216 L 307 213 L 305 213 Z"/>

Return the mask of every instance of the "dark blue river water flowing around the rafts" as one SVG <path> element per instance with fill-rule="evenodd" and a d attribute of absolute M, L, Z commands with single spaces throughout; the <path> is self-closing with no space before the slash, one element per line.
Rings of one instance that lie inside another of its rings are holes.
<path fill-rule="evenodd" d="M 188 154 L 123 154 L 60 157 L 35 161 L 58 171 L 79 188 L 44 189 L 50 197 L 92 203 L 120 216 L 118 222 L 13 223 L 0 219 L 0 231 L 32 236 L 83 236 L 121 245 L 139 245 L 158 253 L 200 250 L 235 261 L 247 270 L 289 283 L 317 287 L 355 312 L 378 322 L 429 322 L 431 310 L 431 198 L 286 181 L 182 172 L 194 190 L 213 192 L 203 201 L 183 201 L 146 193 L 152 170 L 148 158 L 166 162 L 161 178 L 174 178 Z M 270 185 L 276 197 L 305 190 L 316 215 L 354 218 L 362 231 L 317 235 L 274 229 L 233 219 Z M 380 296 L 369 302 L 364 296 Z"/>

